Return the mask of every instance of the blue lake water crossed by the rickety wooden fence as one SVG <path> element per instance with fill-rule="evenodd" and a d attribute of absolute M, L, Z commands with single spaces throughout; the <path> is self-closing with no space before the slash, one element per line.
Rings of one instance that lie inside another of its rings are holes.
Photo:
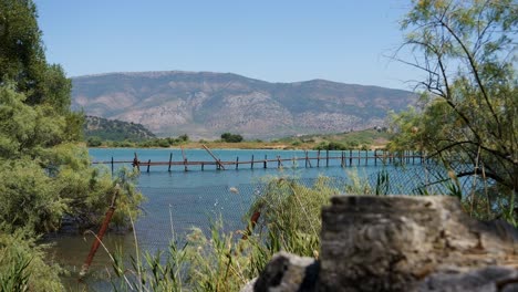
<path fill-rule="evenodd" d="M 170 154 L 173 154 L 174 161 L 183 160 L 180 149 L 90 149 L 94 161 L 108 161 L 112 157 L 114 160 L 131 161 L 135 153 L 141 161 L 168 161 Z M 265 157 L 269 159 L 278 156 L 280 158 L 305 157 L 305 153 L 301 150 L 213 149 L 213 153 L 221 161 L 235 161 L 237 157 L 240 161 L 251 160 L 252 155 L 256 161 L 265 159 Z M 317 157 L 317 152 L 309 152 L 310 157 Z M 341 157 L 341 152 L 330 152 L 329 155 L 330 157 Z M 301 160 L 284 161 L 281 168 L 278 168 L 277 161 L 269 163 L 268 168 L 263 168 L 262 163 L 257 163 L 253 169 L 249 164 L 240 165 L 239 169 L 235 169 L 235 166 L 227 166 L 227 170 L 216 170 L 216 166 L 207 165 L 204 171 L 201 171 L 200 166 L 189 166 L 188 171 L 185 171 L 184 166 L 174 166 L 172 171 L 168 171 L 168 166 L 152 166 L 149 173 L 146 171 L 146 167 L 142 167 L 137 184 L 138 189 L 147 197 L 147 201 L 142 206 L 144 216 L 135 222 L 135 233 L 108 234 L 105 240 L 106 248 L 113 250 L 115 246 L 121 246 L 126 252 L 132 253 L 135 246 L 134 234 L 136 234 L 139 247 L 154 252 L 157 249 L 165 249 L 173 237 L 182 240 L 182 237 L 193 226 L 207 229 L 209 220 L 219 216 L 224 220 L 226 229 L 244 229 L 244 216 L 253 198 L 260 196 L 261 182 L 266 178 L 293 177 L 300 179 L 302 184 L 311 185 L 319 176 L 327 176 L 333 178 L 336 188 L 343 189 L 343 184 L 348 182 L 352 173 L 375 181 L 376 174 L 383 169 L 380 161 L 374 165 L 373 160 L 369 160 L 365 165 L 365 159 L 360 159 L 360 161 L 354 159 L 353 165 L 356 166 L 349 166 L 350 153 L 345 152 L 345 155 L 346 167 L 341 167 L 340 159 L 331 159 L 329 167 L 325 167 L 325 152 L 321 153 L 320 167 L 317 167 L 315 160 L 311 161 L 312 167 L 305 167 L 304 161 Z M 361 155 L 365 155 L 365 152 L 362 152 Z M 372 156 L 372 153 L 370 155 Z M 214 160 L 204 149 L 187 149 L 185 156 L 189 161 Z M 354 152 L 353 156 L 356 157 L 358 152 Z M 131 167 L 130 164 L 126 166 Z M 117 167 L 122 167 L 122 165 L 115 165 L 115 168 Z M 418 174 L 423 171 L 418 164 L 408 165 L 404 170 L 397 168 L 397 171 L 393 171 L 395 169 L 393 166 L 384 168 L 393 174 L 405 173 L 406 178 L 418 177 Z M 400 182 L 401 187 L 411 187 L 407 181 Z M 393 185 L 394 188 L 397 186 L 397 184 Z M 400 194 L 403 191 L 408 192 L 407 190 L 392 190 L 392 192 Z M 108 202 L 106 202 L 107 206 Z M 50 238 L 50 241 L 55 244 L 53 252 L 60 263 L 79 272 L 89 253 L 93 236 L 90 233 L 86 236 L 59 234 Z M 111 260 L 106 251 L 101 248 L 91 269 L 102 271 L 110 264 Z"/>

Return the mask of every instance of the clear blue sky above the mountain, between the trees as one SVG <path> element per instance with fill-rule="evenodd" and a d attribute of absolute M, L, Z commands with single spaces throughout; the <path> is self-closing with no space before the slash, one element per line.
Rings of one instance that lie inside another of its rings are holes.
<path fill-rule="evenodd" d="M 46 59 L 69 76 L 232 72 L 410 88 L 391 61 L 410 0 L 35 0 Z"/>

